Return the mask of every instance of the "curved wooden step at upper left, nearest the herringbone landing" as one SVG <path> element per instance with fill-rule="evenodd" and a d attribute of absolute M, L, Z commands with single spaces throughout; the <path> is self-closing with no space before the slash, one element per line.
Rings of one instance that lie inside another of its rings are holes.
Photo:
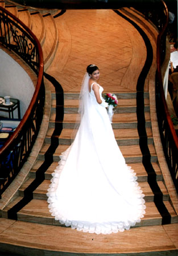
<path fill-rule="evenodd" d="M 58 44 L 58 32 L 55 20 L 51 14 L 43 15 L 45 26 L 45 41 L 42 46 L 44 57 L 44 69 L 47 70 L 55 56 Z"/>

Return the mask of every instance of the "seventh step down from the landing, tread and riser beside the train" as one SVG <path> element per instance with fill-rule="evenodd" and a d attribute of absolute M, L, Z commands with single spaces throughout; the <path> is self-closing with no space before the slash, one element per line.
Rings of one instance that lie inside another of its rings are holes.
<path fill-rule="evenodd" d="M 29 178 L 22 186 L 19 188 L 18 195 L 19 196 L 24 196 L 24 190 L 34 181 L 34 179 Z M 33 192 L 33 198 L 34 199 L 39 199 L 39 200 L 47 200 L 47 189 L 49 188 L 49 184 L 51 183 L 50 180 L 44 180 L 38 188 L 35 189 Z M 165 185 L 163 181 L 158 181 L 158 185 L 160 190 L 163 193 L 163 201 L 168 201 L 169 200 L 169 195 L 168 191 L 165 188 Z M 139 186 L 141 187 L 143 194 L 145 195 L 144 200 L 146 202 L 152 202 L 154 201 L 154 193 L 152 192 L 150 185 L 145 181 L 140 181 Z"/>

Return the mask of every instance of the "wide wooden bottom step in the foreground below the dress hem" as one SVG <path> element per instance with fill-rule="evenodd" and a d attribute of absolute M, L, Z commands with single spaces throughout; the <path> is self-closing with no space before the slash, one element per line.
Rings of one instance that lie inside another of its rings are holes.
<path fill-rule="evenodd" d="M 178 224 L 143 226 L 117 234 L 96 235 L 63 226 L 6 218 L 0 218 L 0 221 L 1 250 L 9 252 L 10 255 L 22 254 L 22 251 L 26 256 L 177 255 Z"/>

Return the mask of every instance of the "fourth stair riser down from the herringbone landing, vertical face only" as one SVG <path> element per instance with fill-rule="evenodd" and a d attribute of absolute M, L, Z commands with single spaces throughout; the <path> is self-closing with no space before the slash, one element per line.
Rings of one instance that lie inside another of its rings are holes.
<path fill-rule="evenodd" d="M 139 138 L 138 139 L 116 139 L 118 146 L 130 146 L 130 145 L 138 145 L 139 144 Z M 45 143 L 50 144 L 51 138 L 45 138 Z M 71 139 L 62 139 L 59 138 L 59 144 L 60 145 L 71 145 Z M 148 138 L 148 144 L 153 144 L 153 139 Z"/>

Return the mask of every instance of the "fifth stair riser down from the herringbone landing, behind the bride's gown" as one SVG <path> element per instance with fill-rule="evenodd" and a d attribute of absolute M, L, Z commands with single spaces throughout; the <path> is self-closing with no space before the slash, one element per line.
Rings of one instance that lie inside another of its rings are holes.
<path fill-rule="evenodd" d="M 125 158 L 127 164 L 142 163 L 142 156 L 138 156 L 138 157 L 124 156 L 124 158 Z M 44 161 L 44 155 L 39 154 L 38 155 L 38 160 Z M 60 160 L 59 155 L 53 155 L 53 162 L 56 162 L 56 166 L 57 166 L 57 163 L 59 162 L 59 160 Z M 156 163 L 157 161 L 158 161 L 157 156 L 151 156 L 151 162 Z"/>

